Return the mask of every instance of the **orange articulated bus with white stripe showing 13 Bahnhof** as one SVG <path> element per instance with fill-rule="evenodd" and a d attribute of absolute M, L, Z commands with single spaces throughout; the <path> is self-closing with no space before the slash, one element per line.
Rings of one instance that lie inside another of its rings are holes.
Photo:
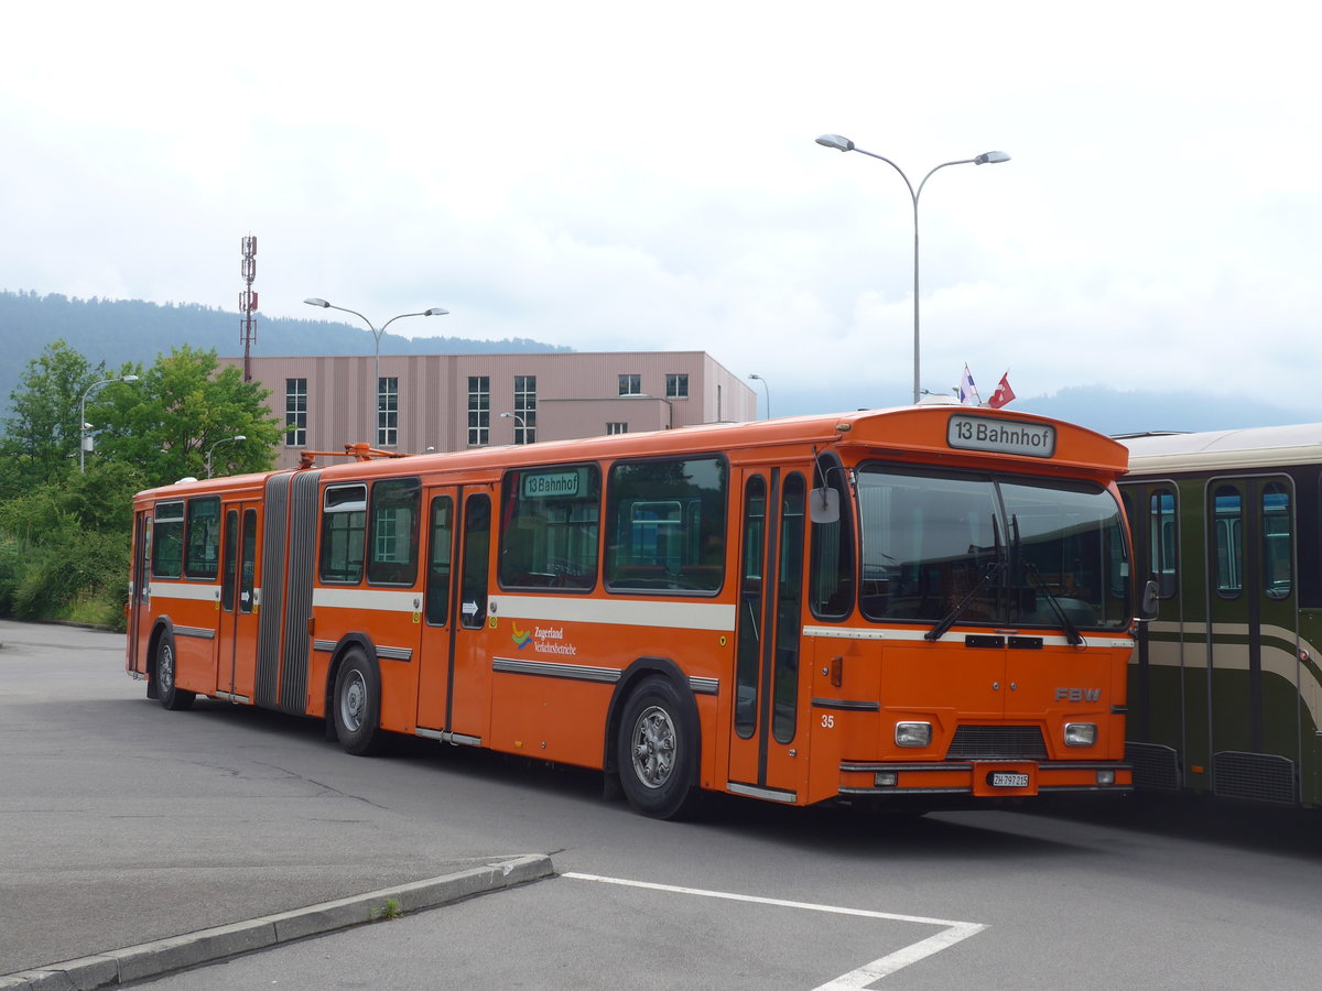
<path fill-rule="evenodd" d="M 916 406 L 192 481 L 135 499 L 127 670 L 699 790 L 1126 790 L 1120 444 Z"/>

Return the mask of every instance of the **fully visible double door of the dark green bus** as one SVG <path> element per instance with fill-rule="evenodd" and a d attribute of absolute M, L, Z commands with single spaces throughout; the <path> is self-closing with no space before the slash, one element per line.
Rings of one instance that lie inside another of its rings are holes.
<path fill-rule="evenodd" d="M 1207 488 L 1212 789 L 1296 802 L 1298 629 L 1293 486 L 1286 477 Z"/>

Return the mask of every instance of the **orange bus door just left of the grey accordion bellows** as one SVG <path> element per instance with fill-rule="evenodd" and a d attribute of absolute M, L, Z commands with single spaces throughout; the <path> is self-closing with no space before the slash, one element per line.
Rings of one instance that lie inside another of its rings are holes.
<path fill-rule="evenodd" d="M 256 678 L 258 505 L 255 501 L 226 505 L 221 536 L 215 690 L 234 702 L 251 702 Z"/>

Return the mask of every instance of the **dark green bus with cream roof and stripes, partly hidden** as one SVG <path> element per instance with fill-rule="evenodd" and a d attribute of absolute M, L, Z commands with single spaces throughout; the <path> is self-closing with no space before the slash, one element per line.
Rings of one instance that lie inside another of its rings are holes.
<path fill-rule="evenodd" d="M 1322 805 L 1322 424 L 1118 440 L 1159 591 L 1129 667 L 1134 785 Z"/>

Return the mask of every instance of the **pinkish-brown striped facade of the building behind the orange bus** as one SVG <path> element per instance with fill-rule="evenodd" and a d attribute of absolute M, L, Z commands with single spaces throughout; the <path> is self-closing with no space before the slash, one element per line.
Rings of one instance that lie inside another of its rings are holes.
<path fill-rule="evenodd" d="M 221 363 L 242 366 L 243 359 Z M 251 358 L 253 378 L 271 390 L 267 403 L 282 423 L 288 381 L 307 379 L 307 436 L 280 447 L 278 468 L 296 465 L 303 448 L 342 451 L 357 441 L 378 447 L 374 367 L 371 354 Z M 518 422 L 501 414 L 521 412 L 516 378 L 529 375 L 537 379 L 535 414 L 525 419 L 533 422 L 527 427 L 535 440 L 598 436 L 608 424 L 639 432 L 758 416 L 752 387 L 705 351 L 383 354 L 381 377 L 399 381 L 398 436 L 385 447 L 406 453 L 471 447 L 471 377 L 489 382 L 485 424 L 479 424 L 485 425 L 485 443 L 512 444 Z M 620 395 L 621 375 L 637 377 L 637 395 Z M 686 377 L 687 395 L 666 395 L 670 375 Z"/>

